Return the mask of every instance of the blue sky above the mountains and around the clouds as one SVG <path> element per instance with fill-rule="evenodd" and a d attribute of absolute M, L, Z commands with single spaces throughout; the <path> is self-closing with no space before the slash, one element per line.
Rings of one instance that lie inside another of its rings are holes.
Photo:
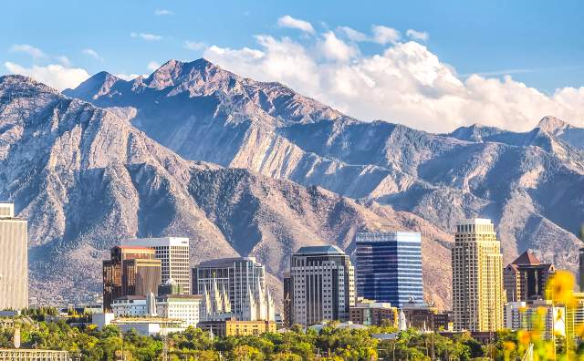
<path fill-rule="evenodd" d="M 510 75 L 550 97 L 558 88 L 584 85 L 581 1 L 20 1 L 0 6 L 3 74 L 51 64 L 83 69 L 89 75 L 103 69 L 127 76 L 148 74 L 149 64 L 153 68 L 170 58 L 207 56 L 210 46 L 248 47 L 267 53 L 265 46 L 258 45 L 257 35 L 278 41 L 286 37 L 308 49 L 316 48 L 319 39 L 333 32 L 352 46 L 342 26 L 366 36 L 373 36 L 372 26 L 385 26 L 401 34 L 399 41 L 413 40 L 424 46 L 441 64 L 452 67 L 462 81 L 471 74 L 499 79 Z M 308 22 L 314 32 L 278 25 L 278 19 L 285 15 Z M 425 32 L 427 39 L 406 36 L 409 29 Z M 185 46 L 186 42 L 191 46 Z M 394 45 L 393 41 L 359 41 L 354 46 L 357 50 L 345 60 L 375 57 Z M 270 77 L 239 67 L 233 57 L 217 56 L 214 60 L 249 73 L 246 76 Z M 287 79 L 290 77 L 273 80 Z M 315 97 L 327 89 L 305 89 L 308 86 L 294 79 L 290 83 Z M 350 113 L 346 99 L 325 98 Z M 566 114 L 579 123 L 582 118 L 577 110 Z M 396 116 L 404 114 L 397 112 Z M 375 113 L 363 116 L 375 118 Z"/>

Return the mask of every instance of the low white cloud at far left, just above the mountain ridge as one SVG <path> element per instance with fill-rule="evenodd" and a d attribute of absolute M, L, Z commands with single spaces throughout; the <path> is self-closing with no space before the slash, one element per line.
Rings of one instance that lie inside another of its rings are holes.
<path fill-rule="evenodd" d="M 80 67 L 63 67 L 58 64 L 50 64 L 46 67 L 23 67 L 9 61 L 5 62 L 4 65 L 13 74 L 33 77 L 36 81 L 59 90 L 75 88 L 89 78 L 89 73 Z"/>

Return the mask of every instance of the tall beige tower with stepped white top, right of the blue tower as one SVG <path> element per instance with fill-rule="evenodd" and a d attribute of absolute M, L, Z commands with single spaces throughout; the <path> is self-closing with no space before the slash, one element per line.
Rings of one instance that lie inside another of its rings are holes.
<path fill-rule="evenodd" d="M 503 328 L 503 255 L 491 220 L 456 225 L 453 260 L 454 330 Z"/>

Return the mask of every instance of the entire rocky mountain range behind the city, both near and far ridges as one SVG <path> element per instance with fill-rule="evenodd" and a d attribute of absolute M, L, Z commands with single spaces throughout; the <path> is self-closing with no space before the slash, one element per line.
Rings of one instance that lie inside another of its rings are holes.
<path fill-rule="evenodd" d="M 454 224 L 492 218 L 508 263 L 527 249 L 575 269 L 584 129 L 430 134 L 360 121 L 279 83 L 199 59 L 63 93 L 0 77 L 0 197 L 29 220 L 32 294 L 99 296 L 123 237 L 186 235 L 192 262 L 255 255 L 272 287 L 308 244 L 422 232 L 426 298 L 448 308 Z M 276 294 L 278 292 L 276 291 Z"/>

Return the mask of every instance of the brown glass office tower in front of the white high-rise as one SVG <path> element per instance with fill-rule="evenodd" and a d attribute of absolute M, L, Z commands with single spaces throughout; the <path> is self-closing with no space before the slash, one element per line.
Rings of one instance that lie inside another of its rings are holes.
<path fill-rule="evenodd" d="M 141 246 L 117 246 L 103 261 L 103 309 L 122 296 L 156 293 L 161 284 L 161 261 L 155 251 Z"/>

